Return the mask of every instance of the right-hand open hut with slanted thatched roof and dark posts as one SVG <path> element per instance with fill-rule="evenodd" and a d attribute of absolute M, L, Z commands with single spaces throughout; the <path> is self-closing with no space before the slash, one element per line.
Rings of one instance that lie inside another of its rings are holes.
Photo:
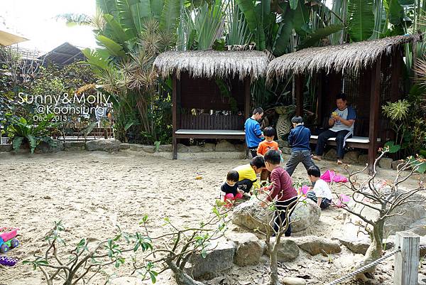
<path fill-rule="evenodd" d="M 404 93 L 401 70 L 405 43 L 420 41 L 419 35 L 395 36 L 375 41 L 306 48 L 275 58 L 268 66 L 267 80 L 295 75 L 296 114 L 303 114 L 306 75 L 317 95 L 317 124 L 329 127 L 329 112 L 335 95 L 345 92 L 356 109 L 354 141 L 346 146 L 368 149 L 368 171 L 372 173 L 378 146 L 393 138 L 389 122 L 381 116 L 381 104 L 395 102 Z M 414 48 L 414 47 L 413 47 Z M 315 138 L 311 138 L 316 143 Z"/>

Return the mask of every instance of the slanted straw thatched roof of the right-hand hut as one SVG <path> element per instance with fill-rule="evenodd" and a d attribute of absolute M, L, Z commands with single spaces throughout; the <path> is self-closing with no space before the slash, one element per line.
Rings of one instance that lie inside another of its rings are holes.
<path fill-rule="evenodd" d="M 351 70 L 355 74 L 371 65 L 383 54 L 390 54 L 398 45 L 410 43 L 418 36 L 395 36 L 374 41 L 305 48 L 275 58 L 268 66 L 268 80 L 288 74 L 314 73 L 320 70 Z"/>

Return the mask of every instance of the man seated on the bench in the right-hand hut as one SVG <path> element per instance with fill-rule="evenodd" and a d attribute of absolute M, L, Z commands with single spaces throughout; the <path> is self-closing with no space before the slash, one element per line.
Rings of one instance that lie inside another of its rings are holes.
<path fill-rule="evenodd" d="M 337 163 L 342 164 L 344 156 L 344 141 L 354 134 L 354 123 L 356 119 L 356 112 L 349 107 L 346 102 L 346 95 L 340 93 L 336 97 L 337 108 L 334 109 L 329 117 L 329 126 L 327 131 L 323 131 L 318 136 L 317 148 L 315 149 L 315 156 L 312 158 L 320 161 L 324 153 L 324 146 L 327 144 L 329 138 L 336 138 L 337 148 Z"/>

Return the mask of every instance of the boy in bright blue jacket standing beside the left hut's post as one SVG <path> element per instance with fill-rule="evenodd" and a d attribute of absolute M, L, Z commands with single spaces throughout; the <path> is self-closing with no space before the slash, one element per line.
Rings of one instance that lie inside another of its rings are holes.
<path fill-rule="evenodd" d="M 253 157 L 257 156 L 258 145 L 263 139 L 261 125 L 258 122 L 262 119 L 262 116 L 263 109 L 257 107 L 253 110 L 253 115 L 249 119 L 246 119 L 246 123 L 244 124 L 247 148 L 250 150 L 251 156 Z"/>

